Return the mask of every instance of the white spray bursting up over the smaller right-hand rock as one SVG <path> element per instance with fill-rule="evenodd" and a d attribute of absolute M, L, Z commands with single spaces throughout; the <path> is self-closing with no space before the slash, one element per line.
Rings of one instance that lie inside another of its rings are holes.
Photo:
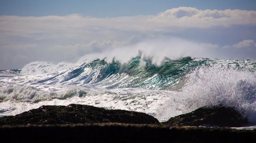
<path fill-rule="evenodd" d="M 256 72 L 221 64 L 197 68 L 187 75 L 182 91 L 164 103 L 160 116 L 173 117 L 217 104 L 243 109 L 249 121 L 256 124 Z"/>

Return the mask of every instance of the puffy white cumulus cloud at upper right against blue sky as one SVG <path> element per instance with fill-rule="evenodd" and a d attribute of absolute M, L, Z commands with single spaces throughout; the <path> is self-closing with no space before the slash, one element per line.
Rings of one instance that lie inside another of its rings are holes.
<path fill-rule="evenodd" d="M 213 26 L 231 26 L 256 24 L 255 11 L 242 10 L 198 10 L 191 7 L 179 7 L 159 13 L 151 19 L 172 26 L 209 28 Z"/>

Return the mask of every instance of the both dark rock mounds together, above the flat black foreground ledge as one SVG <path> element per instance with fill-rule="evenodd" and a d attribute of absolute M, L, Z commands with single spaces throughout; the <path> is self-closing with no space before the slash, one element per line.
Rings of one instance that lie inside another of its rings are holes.
<path fill-rule="evenodd" d="M 145 113 L 126 110 L 108 110 L 78 104 L 71 104 L 69 106 L 42 106 L 15 116 L 0 118 L 0 126 L 108 122 L 160 124 L 156 118 Z M 241 110 L 235 107 L 218 105 L 200 107 L 193 112 L 170 118 L 161 124 L 168 126 L 244 127 L 248 126 L 249 122 Z"/>

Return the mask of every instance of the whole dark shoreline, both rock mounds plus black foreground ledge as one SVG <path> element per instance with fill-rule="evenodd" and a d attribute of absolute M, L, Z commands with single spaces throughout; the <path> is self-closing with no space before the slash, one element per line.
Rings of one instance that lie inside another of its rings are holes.
<path fill-rule="evenodd" d="M 200 126 L 211 126 L 200 127 Z M 145 113 L 87 105 L 42 106 L 0 118 L 0 135 L 8 142 L 249 142 L 256 130 L 235 107 L 201 107 L 160 123 Z M 195 126 L 195 127 L 187 127 Z M 216 127 L 217 126 L 217 127 Z"/>

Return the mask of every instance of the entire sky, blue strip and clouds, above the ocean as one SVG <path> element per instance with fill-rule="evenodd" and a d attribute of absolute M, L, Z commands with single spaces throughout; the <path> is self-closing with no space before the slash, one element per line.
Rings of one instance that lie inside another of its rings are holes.
<path fill-rule="evenodd" d="M 256 60 L 256 0 L 0 0 L 0 70 L 138 51 Z"/>

